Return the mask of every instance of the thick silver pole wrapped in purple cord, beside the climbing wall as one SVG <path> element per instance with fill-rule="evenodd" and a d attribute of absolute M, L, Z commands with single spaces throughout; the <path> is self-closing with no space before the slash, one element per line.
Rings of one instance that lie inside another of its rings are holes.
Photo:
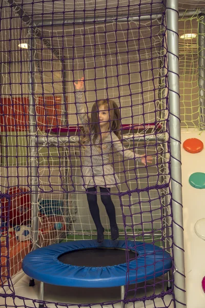
<path fill-rule="evenodd" d="M 174 294 L 176 308 L 185 308 L 185 251 L 181 187 L 181 134 L 178 61 L 178 0 L 167 1 L 168 82 L 170 104 L 171 189 L 173 210 Z"/>

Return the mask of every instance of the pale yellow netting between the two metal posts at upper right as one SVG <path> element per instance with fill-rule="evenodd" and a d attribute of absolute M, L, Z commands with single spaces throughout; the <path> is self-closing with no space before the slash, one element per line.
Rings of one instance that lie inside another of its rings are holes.
<path fill-rule="evenodd" d="M 198 88 L 198 22 L 200 16 L 179 20 L 179 76 L 181 102 L 181 128 L 199 128 Z M 180 36 L 193 33 L 192 40 Z"/>

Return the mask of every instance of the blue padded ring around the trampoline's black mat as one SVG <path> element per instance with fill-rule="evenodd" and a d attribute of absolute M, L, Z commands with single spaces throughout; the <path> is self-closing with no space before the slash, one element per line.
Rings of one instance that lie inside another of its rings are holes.
<path fill-rule="evenodd" d="M 137 260 L 132 260 L 128 264 L 86 267 L 58 261 L 60 255 L 80 249 L 97 247 L 126 249 L 125 241 L 105 240 L 99 244 L 96 240 L 80 240 L 38 248 L 24 258 L 22 268 L 33 279 L 49 284 L 76 287 L 132 284 L 161 276 L 172 268 L 170 254 L 160 247 L 133 241 L 128 241 L 127 246 L 138 253 Z"/>

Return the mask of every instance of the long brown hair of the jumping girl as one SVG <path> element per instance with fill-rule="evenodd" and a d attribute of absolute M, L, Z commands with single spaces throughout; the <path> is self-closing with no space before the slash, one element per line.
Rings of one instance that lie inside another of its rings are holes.
<path fill-rule="evenodd" d="M 93 104 L 91 117 L 88 119 L 88 125 L 85 125 L 81 132 L 80 144 L 85 145 L 87 143 L 96 143 L 97 137 L 100 135 L 99 126 L 99 107 L 104 106 L 105 110 L 108 110 L 110 120 L 108 122 L 107 131 L 113 131 L 120 139 L 120 112 L 119 107 L 113 100 L 100 100 Z M 93 136 L 93 139 L 91 137 Z M 102 140 L 101 140 L 102 141 Z"/>

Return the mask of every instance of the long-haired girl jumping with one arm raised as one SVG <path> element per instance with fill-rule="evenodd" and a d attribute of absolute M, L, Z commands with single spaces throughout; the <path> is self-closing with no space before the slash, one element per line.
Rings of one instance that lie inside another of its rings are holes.
<path fill-rule="evenodd" d="M 99 186 L 101 201 L 105 205 L 109 220 L 112 240 L 119 237 L 119 230 L 116 223 L 115 206 L 110 196 L 111 187 L 119 183 L 118 177 L 114 174 L 113 162 L 109 161 L 111 154 L 118 152 L 124 159 L 137 159 L 146 165 L 145 156 L 137 156 L 135 152 L 124 148 L 120 138 L 120 112 L 117 104 L 112 100 L 101 100 L 94 103 L 91 111 L 91 118 L 85 112 L 82 97 L 84 78 L 74 83 L 76 92 L 76 108 L 78 117 L 84 124 L 84 135 L 81 137 L 81 145 L 85 151 L 82 164 L 83 187 L 87 191 L 87 199 L 90 213 L 97 229 L 98 243 L 104 241 L 104 227 L 101 224 L 99 208 L 97 205 L 96 189 Z M 152 162 L 147 157 L 147 162 Z"/>

